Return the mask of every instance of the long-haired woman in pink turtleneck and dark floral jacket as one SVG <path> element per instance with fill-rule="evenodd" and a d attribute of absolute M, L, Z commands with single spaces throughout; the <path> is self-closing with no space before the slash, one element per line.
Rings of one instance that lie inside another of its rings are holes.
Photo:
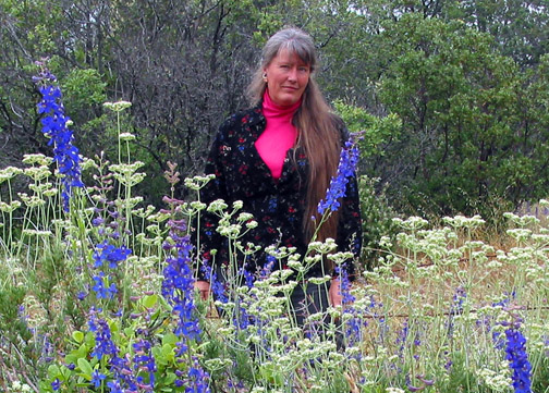
<path fill-rule="evenodd" d="M 258 222 L 240 240 L 243 245 L 251 242 L 261 246 L 260 251 L 246 257 L 245 269 L 252 273 L 268 263 L 265 247 L 296 247 L 296 253 L 304 256 L 315 233 L 317 241 L 331 237 L 338 250 L 351 249 L 355 258 L 359 255 L 355 179 L 349 183 L 339 211 L 317 229 L 317 206 L 337 173 L 346 136 L 313 77 L 316 67 L 315 46 L 307 34 L 297 28 L 274 34 L 265 45 L 261 64 L 248 88 L 253 108 L 233 114 L 221 125 L 207 160 L 206 173 L 216 179 L 200 192 L 202 200 L 209 204 L 221 198 L 229 206 L 242 200 L 242 210 Z M 218 221 L 218 217 L 206 214 L 199 226 L 202 256 L 208 266 L 215 266 L 215 271 L 229 260 L 227 240 L 216 232 Z M 210 249 L 218 250 L 215 258 Z M 269 267 L 286 268 L 284 260 Z M 352 277 L 352 260 L 345 269 Z M 316 263 L 307 277 L 322 277 L 325 272 L 325 267 Z M 305 297 L 314 299 L 306 312 L 325 309 L 327 300 L 340 305 L 340 284 L 333 277 L 328 299 L 324 287 L 307 285 L 307 295 L 301 288 L 294 290 L 294 307 L 298 308 Z M 209 283 L 200 279 L 196 286 L 207 296 Z"/>

